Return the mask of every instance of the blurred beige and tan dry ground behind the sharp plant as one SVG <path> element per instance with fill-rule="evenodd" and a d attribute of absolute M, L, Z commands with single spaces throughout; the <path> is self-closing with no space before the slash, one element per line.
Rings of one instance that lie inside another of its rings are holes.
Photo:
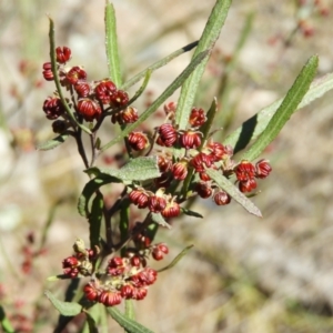
<path fill-rule="evenodd" d="M 113 4 L 125 80 L 198 40 L 214 1 Z M 102 0 L 0 2 L 0 302 L 13 322 L 22 315 L 27 325 L 39 311 L 37 326 L 18 332 L 52 332 L 57 314 L 42 293 L 61 297 L 65 282 L 46 279 L 61 273 L 75 238 L 88 241 L 75 210 L 87 178 L 74 142 L 36 150 L 54 137 L 42 111 L 54 90 L 41 74 L 49 61 L 48 16 L 57 46 L 72 50 L 71 64 L 99 80 L 108 75 L 103 7 Z M 332 14 L 332 0 L 233 1 L 196 101 L 208 109 L 218 98 L 219 139 L 283 97 L 312 54 L 320 57 L 319 77 L 333 71 Z M 154 72 L 135 107 L 144 110 L 191 54 Z M 253 198 L 263 219 L 234 202 L 216 208 L 201 200 L 193 210 L 204 219 L 184 216 L 159 233 L 170 245 L 168 260 L 194 248 L 135 304 L 139 322 L 160 333 L 333 332 L 332 102 L 329 92 L 294 114 L 263 154 L 273 167 Z M 112 138 L 108 125 L 103 135 Z M 72 324 L 67 332 L 79 331 Z"/>

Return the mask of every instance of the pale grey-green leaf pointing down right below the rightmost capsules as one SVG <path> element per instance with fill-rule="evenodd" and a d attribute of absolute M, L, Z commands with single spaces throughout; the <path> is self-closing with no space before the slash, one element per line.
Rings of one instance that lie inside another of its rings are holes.
<path fill-rule="evenodd" d="M 262 218 L 260 210 L 254 205 L 254 203 L 249 200 L 239 189 L 231 183 L 221 171 L 213 169 L 205 169 L 206 174 L 230 196 L 232 196 L 239 204 L 241 204 L 248 212 L 253 215 Z"/>

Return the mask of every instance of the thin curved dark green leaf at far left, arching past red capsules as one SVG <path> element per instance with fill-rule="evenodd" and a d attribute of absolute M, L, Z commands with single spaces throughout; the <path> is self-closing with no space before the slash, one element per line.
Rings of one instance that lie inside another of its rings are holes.
<path fill-rule="evenodd" d="M 78 120 L 74 117 L 70 105 L 67 102 L 67 99 L 64 98 L 64 95 L 62 93 L 60 79 L 59 79 L 59 73 L 58 73 L 58 69 L 57 69 L 56 46 L 54 46 L 54 40 L 56 40 L 56 38 L 54 38 L 54 23 L 53 23 L 51 18 L 49 18 L 49 21 L 50 21 L 50 27 L 49 27 L 50 58 L 51 58 L 52 73 L 53 73 L 53 77 L 54 77 L 54 83 L 56 83 L 56 87 L 57 87 L 57 91 L 58 91 L 59 97 L 61 99 L 61 102 L 64 107 L 64 110 L 68 113 L 68 115 L 71 118 L 72 122 L 74 124 L 77 124 L 85 133 L 91 134 L 91 131 L 88 128 L 85 128 L 80 122 L 78 122 Z"/>

